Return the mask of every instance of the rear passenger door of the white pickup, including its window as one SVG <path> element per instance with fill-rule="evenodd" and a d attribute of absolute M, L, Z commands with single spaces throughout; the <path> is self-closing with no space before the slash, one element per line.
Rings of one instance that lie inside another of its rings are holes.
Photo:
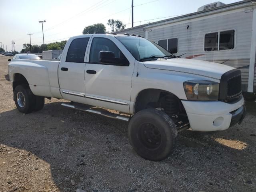
<path fill-rule="evenodd" d="M 62 54 L 58 69 L 60 93 L 66 100 L 86 103 L 85 100 L 85 58 L 92 35 L 70 40 Z M 66 48 L 67 47 L 67 48 Z"/>

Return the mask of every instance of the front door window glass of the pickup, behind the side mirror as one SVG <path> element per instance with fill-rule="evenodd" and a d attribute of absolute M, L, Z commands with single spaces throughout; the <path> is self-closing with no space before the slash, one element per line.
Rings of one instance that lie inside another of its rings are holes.
<path fill-rule="evenodd" d="M 99 53 L 100 51 L 111 51 L 114 52 L 116 58 L 125 60 L 128 62 L 124 54 L 119 50 L 119 48 L 111 40 L 107 38 L 95 37 L 92 40 L 92 46 L 90 50 L 90 63 L 100 63 Z"/>

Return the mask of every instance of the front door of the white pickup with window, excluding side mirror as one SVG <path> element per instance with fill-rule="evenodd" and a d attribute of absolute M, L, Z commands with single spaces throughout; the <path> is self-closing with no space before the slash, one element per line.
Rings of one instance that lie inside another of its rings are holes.
<path fill-rule="evenodd" d="M 86 102 L 93 106 L 130 112 L 134 57 L 114 36 L 95 34 L 92 37 L 85 66 Z M 116 58 L 128 63 L 102 63 L 99 60 L 100 51 L 113 52 Z"/>

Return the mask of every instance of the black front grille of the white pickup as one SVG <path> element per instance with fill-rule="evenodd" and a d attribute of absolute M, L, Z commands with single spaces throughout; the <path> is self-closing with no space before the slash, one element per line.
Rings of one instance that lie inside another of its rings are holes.
<path fill-rule="evenodd" d="M 242 94 L 241 71 L 238 69 L 224 73 L 220 79 L 219 100 L 224 102 L 234 102 Z"/>

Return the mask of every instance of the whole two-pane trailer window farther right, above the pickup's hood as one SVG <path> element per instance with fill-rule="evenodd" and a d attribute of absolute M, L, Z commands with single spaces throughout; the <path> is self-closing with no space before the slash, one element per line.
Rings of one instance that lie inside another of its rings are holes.
<path fill-rule="evenodd" d="M 220 36 L 220 38 L 219 38 Z M 205 51 L 234 49 L 235 30 L 208 33 L 204 36 Z"/>

